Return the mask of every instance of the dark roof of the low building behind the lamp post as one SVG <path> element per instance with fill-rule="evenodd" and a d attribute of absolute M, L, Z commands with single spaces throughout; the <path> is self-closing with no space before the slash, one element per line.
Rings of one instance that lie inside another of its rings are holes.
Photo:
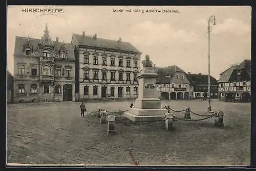
<path fill-rule="evenodd" d="M 208 75 L 202 74 L 188 74 L 188 77 L 193 82 L 194 85 L 203 85 L 208 84 Z M 211 84 L 218 84 L 217 80 L 214 77 L 210 76 L 210 83 Z"/>

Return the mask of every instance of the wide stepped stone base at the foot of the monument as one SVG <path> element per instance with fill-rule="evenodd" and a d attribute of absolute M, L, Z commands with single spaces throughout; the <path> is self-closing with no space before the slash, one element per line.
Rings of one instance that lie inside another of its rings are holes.
<path fill-rule="evenodd" d="M 164 120 L 166 109 L 138 109 L 132 108 L 124 112 L 123 116 L 132 120 L 134 123 L 141 123 L 145 121 Z"/>

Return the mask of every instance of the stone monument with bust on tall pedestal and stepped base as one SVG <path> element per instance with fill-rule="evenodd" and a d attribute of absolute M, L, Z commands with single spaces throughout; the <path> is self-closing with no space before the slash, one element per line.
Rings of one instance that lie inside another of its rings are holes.
<path fill-rule="evenodd" d="M 158 120 L 167 113 L 161 109 L 160 93 L 156 90 L 156 74 L 150 56 L 141 62 L 143 65 L 139 79 L 138 98 L 135 100 L 135 107 L 124 113 L 124 116 L 136 122 Z"/>

